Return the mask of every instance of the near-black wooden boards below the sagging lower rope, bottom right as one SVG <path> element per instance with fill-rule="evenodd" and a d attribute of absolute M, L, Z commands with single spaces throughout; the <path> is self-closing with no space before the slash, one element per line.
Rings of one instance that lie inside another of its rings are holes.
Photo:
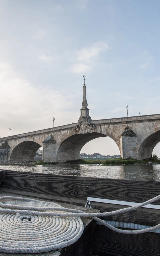
<path fill-rule="evenodd" d="M 96 225 L 94 255 L 159 256 L 160 234 L 119 234 Z"/>

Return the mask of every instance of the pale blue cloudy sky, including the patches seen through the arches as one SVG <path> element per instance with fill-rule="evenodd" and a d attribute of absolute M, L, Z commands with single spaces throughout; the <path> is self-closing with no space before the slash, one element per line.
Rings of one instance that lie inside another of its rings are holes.
<path fill-rule="evenodd" d="M 159 0 L 0 0 L 0 137 L 160 112 Z M 119 154 L 109 137 L 81 152 Z M 154 148 L 160 157 L 160 143 Z"/>

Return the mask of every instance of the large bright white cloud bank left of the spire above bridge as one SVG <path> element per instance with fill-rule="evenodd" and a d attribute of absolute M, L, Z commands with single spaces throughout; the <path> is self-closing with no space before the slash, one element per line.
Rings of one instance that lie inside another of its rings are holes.
<path fill-rule="evenodd" d="M 0 63 L 0 136 L 36 131 L 52 127 L 53 113 L 55 126 L 77 122 L 79 108 L 73 110 L 73 99 L 68 92 L 36 88 L 22 79 L 9 63 Z M 2 97 L 5 95 L 5 97 Z"/>

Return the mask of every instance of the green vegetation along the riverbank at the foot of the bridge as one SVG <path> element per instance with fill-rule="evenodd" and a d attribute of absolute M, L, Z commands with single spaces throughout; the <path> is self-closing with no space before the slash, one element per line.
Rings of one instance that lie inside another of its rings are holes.
<path fill-rule="evenodd" d="M 86 160 L 79 158 L 77 160 L 69 160 L 66 161 L 66 164 L 102 164 L 102 165 L 146 165 L 148 162 L 151 164 L 160 164 L 160 159 L 158 159 L 157 155 L 153 155 L 152 157 L 144 160 L 137 160 L 133 158 L 122 159 L 120 158 L 113 158 L 107 160 Z M 45 165 L 45 164 L 59 164 L 59 162 L 43 162 L 42 160 L 34 162 L 34 165 Z"/>

